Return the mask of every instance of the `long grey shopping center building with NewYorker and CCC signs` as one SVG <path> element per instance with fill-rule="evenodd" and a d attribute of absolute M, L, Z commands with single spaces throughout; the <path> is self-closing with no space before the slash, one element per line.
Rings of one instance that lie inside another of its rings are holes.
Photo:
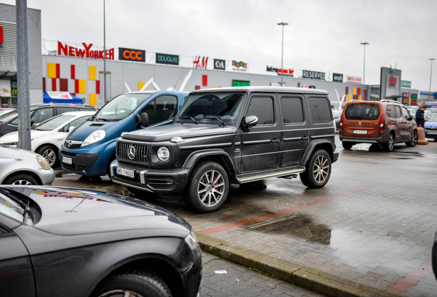
<path fill-rule="evenodd" d="M 2 107 L 16 107 L 17 101 L 15 19 L 15 6 L 0 3 Z M 82 98 L 85 104 L 101 107 L 107 100 L 129 90 L 183 88 L 183 91 L 192 91 L 245 85 L 325 89 L 329 91 L 331 104 L 335 108 L 339 105 L 337 99 L 343 96 L 346 96 L 346 100 L 391 98 L 410 104 L 429 101 L 423 92 L 411 89 L 411 82 L 401 80 L 399 69 L 387 72 L 388 68 L 381 67 L 383 83 L 377 86 L 362 85 L 360 76 L 289 67 L 281 70 L 273 65 L 266 65 L 262 74 L 254 74 L 250 72 L 249 61 L 181 56 L 175 49 L 168 49 L 168 54 L 131 49 L 123 45 L 104 50 L 102 46 L 80 41 L 43 41 L 40 10 L 27 10 L 27 28 L 31 104 L 43 102 L 43 94 L 54 91 L 68 91 Z M 106 98 L 104 94 L 107 94 Z M 432 99 L 436 99 L 435 94 Z"/>

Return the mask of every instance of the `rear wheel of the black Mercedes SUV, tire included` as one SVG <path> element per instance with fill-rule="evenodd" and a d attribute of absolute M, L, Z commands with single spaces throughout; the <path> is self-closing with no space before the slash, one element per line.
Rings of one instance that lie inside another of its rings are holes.
<path fill-rule="evenodd" d="M 329 154 L 323 150 L 317 150 L 311 155 L 305 165 L 305 172 L 300 173 L 300 180 L 308 188 L 322 188 L 329 180 L 331 161 Z"/>

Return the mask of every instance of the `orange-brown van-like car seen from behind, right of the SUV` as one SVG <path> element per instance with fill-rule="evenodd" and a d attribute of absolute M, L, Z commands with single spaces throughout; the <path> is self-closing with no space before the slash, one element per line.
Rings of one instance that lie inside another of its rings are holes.
<path fill-rule="evenodd" d="M 372 143 L 393 151 L 394 144 L 416 146 L 417 124 L 408 110 L 392 100 L 347 102 L 340 119 L 340 140 L 345 149 Z"/>

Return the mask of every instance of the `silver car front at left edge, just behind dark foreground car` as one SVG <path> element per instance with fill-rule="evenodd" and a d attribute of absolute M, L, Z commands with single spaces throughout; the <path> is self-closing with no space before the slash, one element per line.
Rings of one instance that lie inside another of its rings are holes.
<path fill-rule="evenodd" d="M 41 155 L 0 144 L 0 184 L 51 185 L 54 177 L 54 170 Z"/>

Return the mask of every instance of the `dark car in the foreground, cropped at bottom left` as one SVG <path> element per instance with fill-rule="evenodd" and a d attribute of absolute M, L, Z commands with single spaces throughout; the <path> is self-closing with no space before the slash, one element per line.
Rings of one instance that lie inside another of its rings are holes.
<path fill-rule="evenodd" d="M 199 296 L 191 226 L 131 197 L 1 186 L 0 250 L 2 297 Z"/>

